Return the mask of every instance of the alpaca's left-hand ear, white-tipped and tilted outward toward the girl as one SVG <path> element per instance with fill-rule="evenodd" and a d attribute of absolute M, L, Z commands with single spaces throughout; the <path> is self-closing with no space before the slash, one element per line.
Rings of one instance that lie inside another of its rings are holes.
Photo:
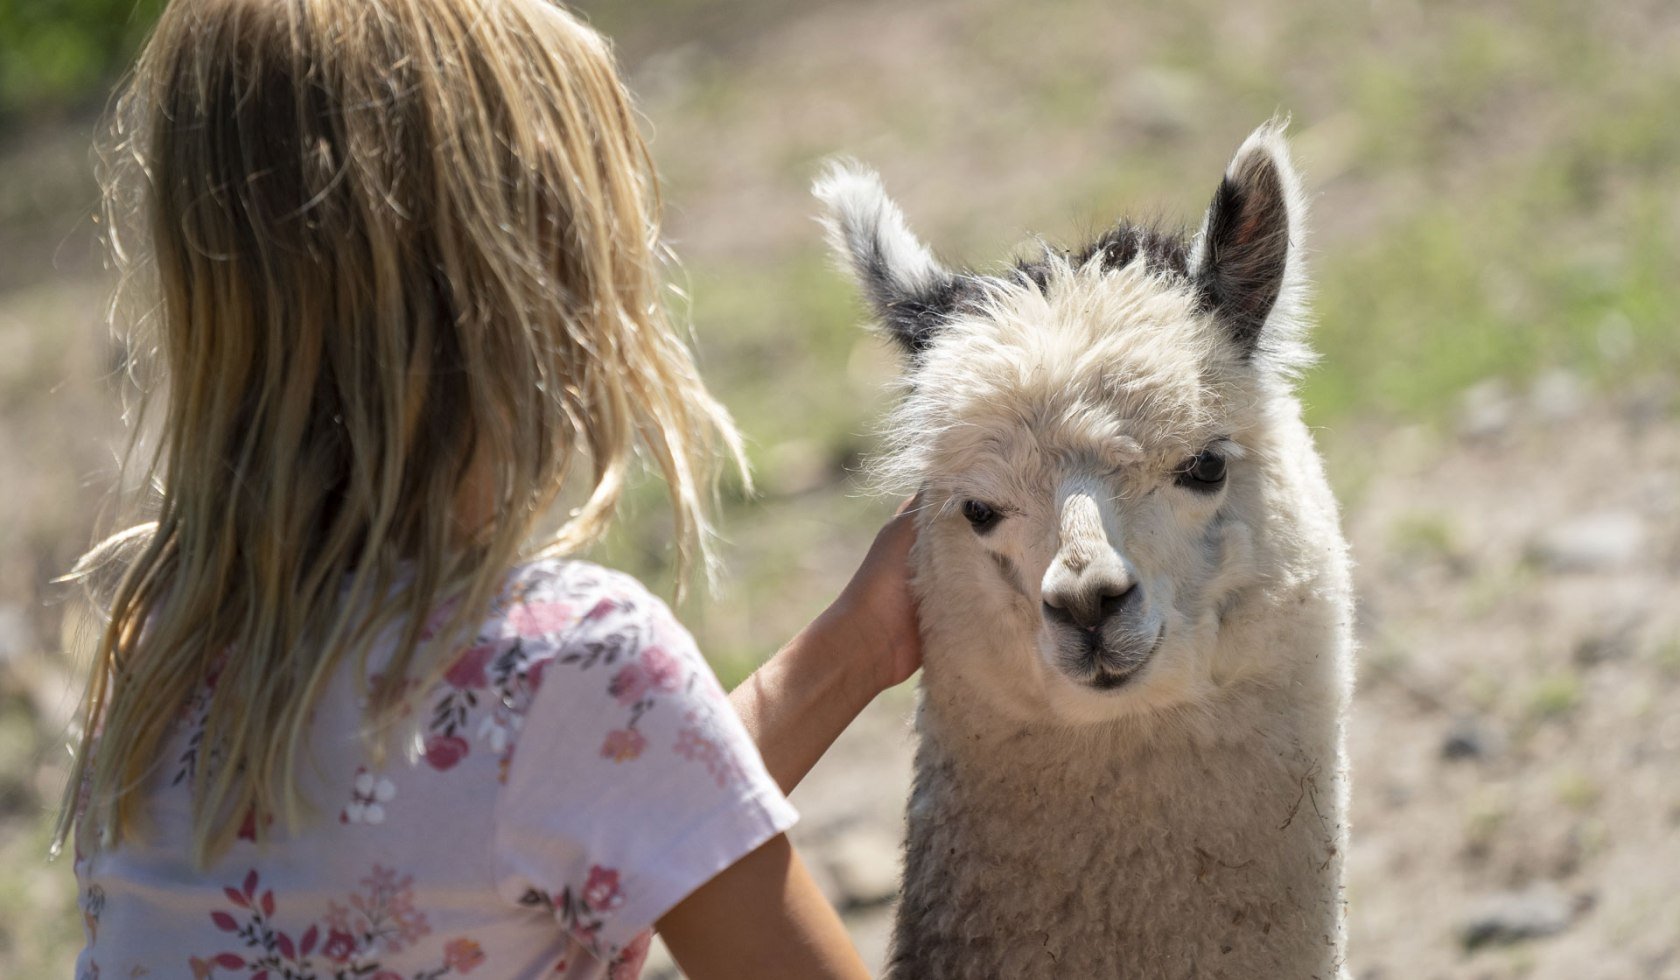
<path fill-rule="evenodd" d="M 959 298 L 959 279 L 911 234 L 874 171 L 830 163 L 811 193 L 823 202 L 830 244 L 882 326 L 911 356 L 927 350 Z"/>

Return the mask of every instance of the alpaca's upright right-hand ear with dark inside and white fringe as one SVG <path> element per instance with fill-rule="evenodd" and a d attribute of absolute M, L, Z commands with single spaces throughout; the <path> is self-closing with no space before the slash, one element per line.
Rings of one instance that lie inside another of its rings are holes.
<path fill-rule="evenodd" d="M 1191 250 L 1196 289 L 1243 356 L 1260 346 L 1273 311 L 1294 314 L 1302 287 L 1305 202 L 1284 126 L 1280 119 L 1260 126 L 1236 151 Z"/>

